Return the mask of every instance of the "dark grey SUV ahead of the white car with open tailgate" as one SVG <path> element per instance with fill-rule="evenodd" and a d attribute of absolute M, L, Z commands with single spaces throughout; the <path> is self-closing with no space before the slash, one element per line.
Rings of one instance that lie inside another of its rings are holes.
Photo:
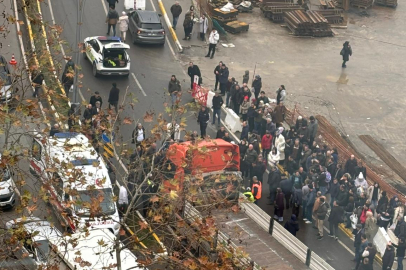
<path fill-rule="evenodd" d="M 165 44 L 165 29 L 155 11 L 134 10 L 129 15 L 133 43 Z"/>

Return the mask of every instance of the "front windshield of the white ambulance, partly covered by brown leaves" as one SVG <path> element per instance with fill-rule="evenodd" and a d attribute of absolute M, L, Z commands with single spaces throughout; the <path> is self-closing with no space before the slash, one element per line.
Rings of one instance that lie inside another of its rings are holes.
<path fill-rule="evenodd" d="M 89 208 L 93 208 L 95 203 L 100 207 L 97 216 L 112 215 L 116 211 L 111 188 L 78 191 L 75 210 L 80 216 L 90 216 Z"/>

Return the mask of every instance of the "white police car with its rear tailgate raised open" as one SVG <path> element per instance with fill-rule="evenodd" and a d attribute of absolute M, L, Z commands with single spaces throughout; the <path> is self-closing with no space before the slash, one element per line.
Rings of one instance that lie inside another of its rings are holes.
<path fill-rule="evenodd" d="M 130 74 L 130 46 L 119 37 L 95 36 L 85 38 L 83 56 L 93 65 L 93 76 Z"/>

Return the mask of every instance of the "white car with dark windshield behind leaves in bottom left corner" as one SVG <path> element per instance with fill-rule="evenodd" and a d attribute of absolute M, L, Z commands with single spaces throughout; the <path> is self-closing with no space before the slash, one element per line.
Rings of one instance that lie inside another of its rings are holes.
<path fill-rule="evenodd" d="M 24 269 L 38 269 L 51 259 L 50 238 L 62 237 L 62 233 L 48 221 L 38 217 L 10 220 L 6 243 Z"/>

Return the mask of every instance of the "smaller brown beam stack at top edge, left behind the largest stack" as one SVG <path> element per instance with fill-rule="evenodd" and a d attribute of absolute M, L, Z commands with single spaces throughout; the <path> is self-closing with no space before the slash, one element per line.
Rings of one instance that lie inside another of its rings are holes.
<path fill-rule="evenodd" d="M 283 13 L 304 10 L 304 7 L 293 3 L 293 0 L 263 0 L 260 5 L 265 18 L 273 22 L 283 22 Z"/>

